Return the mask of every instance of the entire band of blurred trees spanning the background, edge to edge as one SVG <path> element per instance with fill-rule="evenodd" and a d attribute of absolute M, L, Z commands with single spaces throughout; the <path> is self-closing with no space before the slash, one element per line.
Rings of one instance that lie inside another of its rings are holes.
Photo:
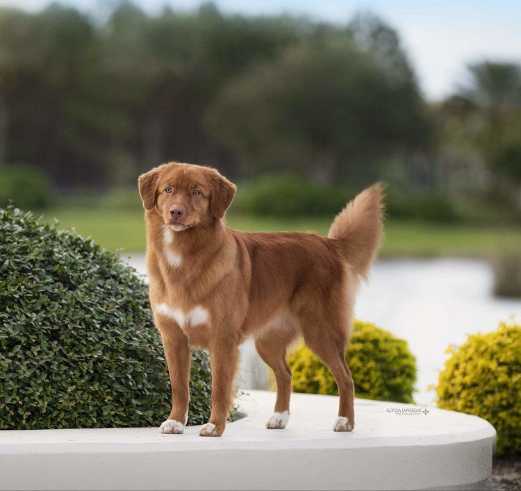
<path fill-rule="evenodd" d="M 328 24 L 131 1 L 107 13 L 0 8 L 0 167 L 31 165 L 69 194 L 134 185 L 168 160 L 239 181 L 383 180 L 411 197 L 391 217 L 520 218 L 520 65 L 474 63 L 431 102 L 397 31 L 370 13 Z"/>

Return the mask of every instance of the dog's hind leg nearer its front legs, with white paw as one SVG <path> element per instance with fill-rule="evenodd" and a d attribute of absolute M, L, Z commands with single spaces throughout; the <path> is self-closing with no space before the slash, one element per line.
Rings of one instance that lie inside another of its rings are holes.
<path fill-rule="evenodd" d="M 273 370 L 276 381 L 275 410 L 267 420 L 266 428 L 286 428 L 290 419 L 292 373 L 288 360 L 286 360 L 286 350 L 288 344 L 295 340 L 296 334 L 288 327 L 272 328 L 255 340 L 259 356 Z"/>

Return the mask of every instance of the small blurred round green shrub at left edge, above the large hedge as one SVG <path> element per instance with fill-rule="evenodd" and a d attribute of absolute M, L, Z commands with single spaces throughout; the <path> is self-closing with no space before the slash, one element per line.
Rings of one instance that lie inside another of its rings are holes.
<path fill-rule="evenodd" d="M 0 167 L 0 206 L 13 201 L 20 208 L 42 209 L 52 198 L 51 181 L 38 169 L 14 164 Z"/>

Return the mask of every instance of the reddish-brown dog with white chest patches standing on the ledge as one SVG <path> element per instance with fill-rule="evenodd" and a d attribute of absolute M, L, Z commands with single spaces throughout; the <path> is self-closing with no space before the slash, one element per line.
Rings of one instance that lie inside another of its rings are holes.
<path fill-rule="evenodd" d="M 188 416 L 189 344 L 210 351 L 212 413 L 199 435 L 220 436 L 233 399 L 239 345 L 253 336 L 275 374 L 267 428 L 288 424 L 288 345 L 299 336 L 331 369 L 340 407 L 334 431 L 354 428 L 354 384 L 345 362 L 356 288 L 382 233 L 382 188 L 373 185 L 336 217 L 328 238 L 245 233 L 224 223 L 235 185 L 215 169 L 169 163 L 139 178 L 147 222 L 150 303 L 163 339 L 172 412 L 163 433 Z"/>

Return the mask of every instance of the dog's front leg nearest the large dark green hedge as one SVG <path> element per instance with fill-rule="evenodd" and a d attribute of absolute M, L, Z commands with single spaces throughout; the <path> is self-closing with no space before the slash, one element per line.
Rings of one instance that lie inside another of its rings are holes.
<path fill-rule="evenodd" d="M 176 326 L 160 330 L 165 348 L 170 385 L 172 385 L 172 411 L 160 426 L 161 433 L 183 433 L 188 420 L 190 402 L 190 347 L 188 339 Z"/>

